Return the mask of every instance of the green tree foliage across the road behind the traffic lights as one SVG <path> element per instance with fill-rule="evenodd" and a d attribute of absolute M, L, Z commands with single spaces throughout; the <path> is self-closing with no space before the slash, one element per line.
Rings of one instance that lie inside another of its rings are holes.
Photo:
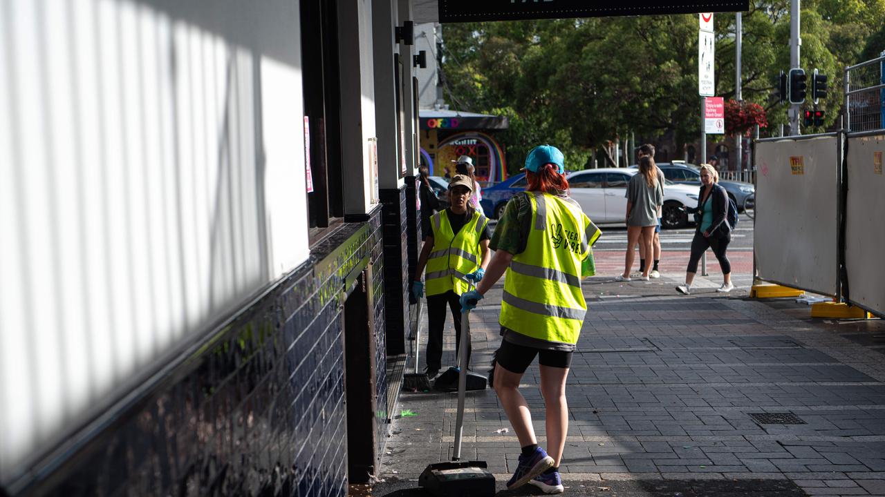
<path fill-rule="evenodd" d="M 829 125 L 842 102 L 844 66 L 885 50 L 885 0 L 803 6 L 802 66 L 829 76 Z M 734 98 L 734 14 L 717 14 L 716 36 L 716 95 Z M 541 143 L 557 145 L 566 167 L 581 169 L 596 147 L 629 133 L 672 133 L 677 145 L 700 133 L 694 14 L 452 24 L 443 39 L 448 103 L 508 117 L 501 139 L 511 172 Z M 772 130 L 786 122 L 773 89 L 789 69 L 789 0 L 754 0 L 743 13 L 742 68 L 743 100 L 766 109 Z"/>

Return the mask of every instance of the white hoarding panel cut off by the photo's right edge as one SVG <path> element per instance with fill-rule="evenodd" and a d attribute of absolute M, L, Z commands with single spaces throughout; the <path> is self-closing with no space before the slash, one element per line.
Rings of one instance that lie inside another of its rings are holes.
<path fill-rule="evenodd" d="M 848 139 L 845 265 L 848 298 L 885 316 L 885 134 Z"/>

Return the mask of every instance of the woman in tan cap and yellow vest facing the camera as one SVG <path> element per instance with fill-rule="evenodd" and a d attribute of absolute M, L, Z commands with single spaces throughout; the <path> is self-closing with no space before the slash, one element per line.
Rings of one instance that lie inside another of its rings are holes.
<path fill-rule="evenodd" d="M 430 218 L 430 231 L 418 256 L 412 282 L 416 299 L 427 289 L 427 377 L 434 378 L 443 360 L 446 306 L 455 323 L 456 354 L 461 343 L 461 294 L 485 274 L 489 265 L 489 220 L 470 207 L 473 182 L 456 175 L 449 183 L 450 207 Z M 421 282 L 421 273 L 427 274 Z M 467 348 L 470 364 L 470 348 Z"/>

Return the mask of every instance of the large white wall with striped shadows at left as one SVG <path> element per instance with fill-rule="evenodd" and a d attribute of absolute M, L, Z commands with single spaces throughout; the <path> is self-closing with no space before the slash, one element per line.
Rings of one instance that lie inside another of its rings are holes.
<path fill-rule="evenodd" d="M 4 0 L 0 39 L 6 479 L 308 246 L 297 0 Z"/>

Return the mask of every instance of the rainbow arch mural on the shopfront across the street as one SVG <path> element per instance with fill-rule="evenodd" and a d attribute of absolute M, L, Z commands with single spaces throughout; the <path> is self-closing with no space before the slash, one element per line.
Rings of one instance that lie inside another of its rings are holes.
<path fill-rule="evenodd" d="M 475 141 L 473 143 L 472 141 Z M 424 163 L 430 169 L 430 174 L 434 176 L 445 176 L 455 173 L 455 163 L 451 162 L 461 155 L 473 157 L 475 164 L 476 157 L 479 155 L 476 148 L 485 146 L 489 153 L 489 168 L 484 174 L 481 171 L 476 172 L 476 179 L 480 181 L 489 181 L 489 183 L 497 183 L 507 179 L 507 162 L 504 157 L 504 150 L 498 142 L 489 134 L 479 131 L 466 131 L 463 133 L 452 134 L 445 140 L 440 141 L 436 145 L 436 164 L 430 159 L 430 154 L 423 147 L 421 148 L 421 157 Z"/>

